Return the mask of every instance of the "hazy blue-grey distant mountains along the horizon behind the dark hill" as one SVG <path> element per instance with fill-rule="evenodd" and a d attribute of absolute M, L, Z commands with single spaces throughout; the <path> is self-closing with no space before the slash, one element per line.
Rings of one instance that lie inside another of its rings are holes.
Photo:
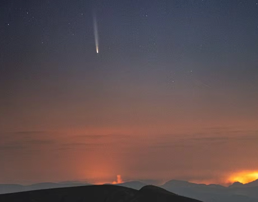
<path fill-rule="evenodd" d="M 37 183 L 32 185 L 18 185 L 18 184 L 0 184 L 1 193 L 12 193 L 29 190 L 50 189 L 60 187 L 71 186 L 85 186 L 91 185 L 77 181 L 67 181 L 60 183 Z M 110 185 L 110 184 L 106 184 Z M 115 186 L 123 186 L 125 188 L 131 188 L 140 190 L 147 184 L 132 181 L 121 184 L 115 184 Z M 114 185 L 110 185 L 114 186 Z M 163 185 L 159 186 L 167 191 L 179 194 L 181 196 L 198 199 L 204 202 L 257 202 L 258 201 L 258 179 L 242 184 L 235 182 L 229 187 L 224 187 L 217 184 L 196 184 L 187 181 L 171 180 Z"/>

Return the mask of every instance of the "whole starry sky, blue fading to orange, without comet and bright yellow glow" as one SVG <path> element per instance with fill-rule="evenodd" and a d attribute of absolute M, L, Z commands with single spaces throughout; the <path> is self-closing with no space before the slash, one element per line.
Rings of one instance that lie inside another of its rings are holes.
<path fill-rule="evenodd" d="M 0 183 L 258 172 L 257 0 L 1 0 L 0 13 Z"/>

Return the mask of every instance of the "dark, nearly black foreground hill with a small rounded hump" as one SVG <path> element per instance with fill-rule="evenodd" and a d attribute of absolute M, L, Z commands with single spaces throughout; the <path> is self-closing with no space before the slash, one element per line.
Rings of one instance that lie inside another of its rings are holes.
<path fill-rule="evenodd" d="M 198 202 L 148 185 L 139 191 L 123 186 L 89 185 L 0 194 L 4 202 Z M 200 201 L 199 201 L 200 202 Z"/>

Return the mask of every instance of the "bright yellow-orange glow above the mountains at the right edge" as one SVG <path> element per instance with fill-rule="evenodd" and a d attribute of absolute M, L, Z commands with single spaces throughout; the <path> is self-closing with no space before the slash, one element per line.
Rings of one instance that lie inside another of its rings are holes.
<path fill-rule="evenodd" d="M 239 173 L 234 173 L 228 181 L 230 183 L 241 182 L 243 184 L 253 182 L 258 179 L 258 171 L 241 171 Z"/>

